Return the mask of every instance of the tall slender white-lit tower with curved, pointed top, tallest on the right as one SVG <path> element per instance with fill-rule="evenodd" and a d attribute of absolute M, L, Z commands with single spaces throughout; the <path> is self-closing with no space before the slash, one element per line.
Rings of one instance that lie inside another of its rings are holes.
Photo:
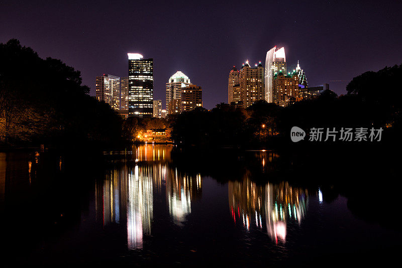
<path fill-rule="evenodd" d="M 276 50 L 276 47 L 268 50 L 265 58 L 265 100 L 273 102 L 272 81 L 274 72 L 282 71 L 286 73 L 285 49 L 282 47 Z"/>

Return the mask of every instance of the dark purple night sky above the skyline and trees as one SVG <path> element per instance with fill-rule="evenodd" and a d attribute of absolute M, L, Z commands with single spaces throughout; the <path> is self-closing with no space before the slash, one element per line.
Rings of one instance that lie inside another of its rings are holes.
<path fill-rule="evenodd" d="M 154 58 L 154 99 L 177 70 L 203 87 L 204 106 L 227 102 L 228 74 L 284 46 L 310 86 L 338 94 L 365 71 L 402 63 L 402 1 L 0 1 L 0 42 L 94 77 L 127 76 L 127 52 Z M 339 81 L 342 80 L 342 81 Z M 337 82 L 335 82 L 337 81 Z"/>

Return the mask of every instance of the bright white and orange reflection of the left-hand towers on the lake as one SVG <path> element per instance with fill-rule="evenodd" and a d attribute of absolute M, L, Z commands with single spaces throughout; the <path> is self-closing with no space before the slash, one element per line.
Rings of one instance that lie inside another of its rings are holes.
<path fill-rule="evenodd" d="M 120 168 L 96 182 L 97 221 L 103 226 L 126 223 L 128 248 L 142 248 L 143 236 L 151 233 L 154 195 L 166 197 L 167 209 L 178 225 L 191 213 L 191 202 L 201 195 L 201 176 L 171 168 L 171 150 L 165 145 L 134 146 Z"/>

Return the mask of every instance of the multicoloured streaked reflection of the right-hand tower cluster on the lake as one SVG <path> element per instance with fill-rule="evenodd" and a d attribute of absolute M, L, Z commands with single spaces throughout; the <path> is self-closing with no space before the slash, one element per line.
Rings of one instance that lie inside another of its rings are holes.
<path fill-rule="evenodd" d="M 235 222 L 249 230 L 251 225 L 267 228 L 268 235 L 278 242 L 286 241 L 286 223 L 298 224 L 306 216 L 308 192 L 291 187 L 287 182 L 257 185 L 247 177 L 229 182 L 229 207 Z"/>

